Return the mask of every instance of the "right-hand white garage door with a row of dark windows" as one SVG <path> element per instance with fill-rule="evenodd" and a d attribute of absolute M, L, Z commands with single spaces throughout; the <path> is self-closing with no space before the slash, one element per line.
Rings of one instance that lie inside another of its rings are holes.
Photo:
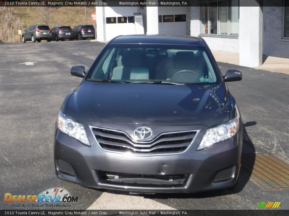
<path fill-rule="evenodd" d="M 186 35 L 186 7 L 159 7 L 159 34 Z"/>

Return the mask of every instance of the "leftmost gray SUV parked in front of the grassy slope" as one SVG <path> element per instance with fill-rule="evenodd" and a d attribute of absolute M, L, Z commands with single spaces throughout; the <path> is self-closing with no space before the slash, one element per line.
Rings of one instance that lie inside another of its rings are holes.
<path fill-rule="evenodd" d="M 47 40 L 47 42 L 50 42 L 52 34 L 48 26 L 33 25 L 24 30 L 21 37 L 23 43 L 26 41 L 41 42 L 42 40 Z"/>

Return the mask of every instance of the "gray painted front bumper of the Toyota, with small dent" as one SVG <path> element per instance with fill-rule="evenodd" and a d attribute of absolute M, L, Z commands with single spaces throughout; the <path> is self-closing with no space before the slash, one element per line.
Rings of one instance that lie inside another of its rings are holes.
<path fill-rule="evenodd" d="M 240 128 L 242 128 L 241 125 Z M 60 179 L 89 187 L 152 193 L 197 192 L 234 186 L 241 167 L 242 130 L 240 129 L 229 140 L 196 151 L 206 130 L 200 131 L 194 143 L 184 153 L 136 156 L 101 150 L 89 131 L 86 131 L 86 134 L 91 147 L 83 145 L 56 129 L 54 140 L 56 175 Z M 73 167 L 75 176 L 61 171 L 59 159 Z M 231 178 L 215 182 L 220 172 L 222 174 L 224 170 L 226 172 L 231 168 L 233 170 Z M 154 176 L 153 178 L 176 175 L 185 177 L 184 181 L 178 184 L 170 184 L 172 181 L 158 179 L 141 179 L 141 181 L 137 178 L 122 182 L 120 179 L 117 181 L 104 179 L 103 173 Z"/>

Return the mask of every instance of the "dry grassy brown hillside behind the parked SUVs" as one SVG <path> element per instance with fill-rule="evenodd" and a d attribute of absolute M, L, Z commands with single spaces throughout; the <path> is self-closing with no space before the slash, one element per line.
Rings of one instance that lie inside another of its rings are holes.
<path fill-rule="evenodd" d="M 95 7 L 87 8 L 87 24 Z M 0 39 L 4 42 L 20 42 L 18 29 L 22 32 L 33 24 L 71 26 L 85 24 L 85 7 L 0 7 Z"/>

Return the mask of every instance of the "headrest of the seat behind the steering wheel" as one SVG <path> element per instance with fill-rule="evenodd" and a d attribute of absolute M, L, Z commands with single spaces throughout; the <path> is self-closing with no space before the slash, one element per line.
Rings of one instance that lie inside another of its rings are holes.
<path fill-rule="evenodd" d="M 194 52 L 190 51 L 176 52 L 176 68 L 194 69 L 194 67 L 195 67 Z"/>

